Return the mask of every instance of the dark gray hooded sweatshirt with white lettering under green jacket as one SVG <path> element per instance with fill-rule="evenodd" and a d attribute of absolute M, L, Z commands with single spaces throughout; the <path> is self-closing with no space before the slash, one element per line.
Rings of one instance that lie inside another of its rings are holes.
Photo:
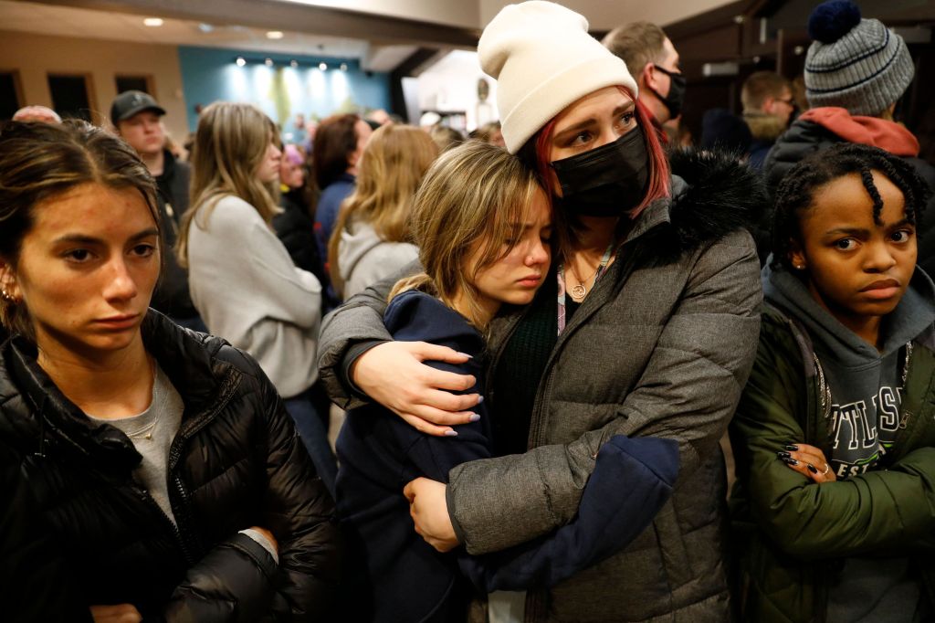
<path fill-rule="evenodd" d="M 808 330 L 825 372 L 834 418 L 831 469 L 839 481 L 877 469 L 899 430 L 906 344 L 935 322 L 935 286 L 916 269 L 899 305 L 883 319 L 878 351 L 841 325 L 789 271 L 772 271 L 768 263 L 762 274 L 764 297 Z M 828 598 L 828 621 L 922 620 L 915 605 L 921 603 L 920 585 L 907 558 L 847 558 Z"/>

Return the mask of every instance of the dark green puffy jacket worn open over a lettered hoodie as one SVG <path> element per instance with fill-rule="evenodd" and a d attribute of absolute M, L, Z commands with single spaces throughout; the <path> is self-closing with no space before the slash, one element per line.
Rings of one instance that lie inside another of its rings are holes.
<path fill-rule="evenodd" d="M 899 436 L 877 471 L 814 484 L 789 442 L 831 455 L 830 394 L 808 334 L 764 306 L 754 369 L 730 425 L 735 606 L 744 621 L 825 621 L 842 559 L 909 556 L 935 603 L 935 331 L 913 340 Z"/>

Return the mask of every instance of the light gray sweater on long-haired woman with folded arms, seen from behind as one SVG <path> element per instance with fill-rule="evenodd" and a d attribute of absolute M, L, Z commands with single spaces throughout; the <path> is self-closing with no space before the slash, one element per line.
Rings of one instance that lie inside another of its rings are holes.
<path fill-rule="evenodd" d="M 209 331 L 250 353 L 283 398 L 308 389 L 321 284 L 243 199 L 223 196 L 203 221 L 198 214 L 188 232 L 189 287 Z"/>

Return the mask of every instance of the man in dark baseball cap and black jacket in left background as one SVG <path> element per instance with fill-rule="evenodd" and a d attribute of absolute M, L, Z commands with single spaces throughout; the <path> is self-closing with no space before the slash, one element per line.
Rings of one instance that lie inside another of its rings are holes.
<path fill-rule="evenodd" d="M 181 326 L 207 331 L 189 293 L 188 273 L 180 267 L 172 251 L 178 239 L 181 215 L 188 210 L 192 169 L 165 149 L 164 115 L 165 109 L 142 91 L 125 91 L 110 104 L 110 121 L 117 134 L 137 152 L 158 189 L 166 253 L 163 276 L 153 295 L 152 307 Z"/>

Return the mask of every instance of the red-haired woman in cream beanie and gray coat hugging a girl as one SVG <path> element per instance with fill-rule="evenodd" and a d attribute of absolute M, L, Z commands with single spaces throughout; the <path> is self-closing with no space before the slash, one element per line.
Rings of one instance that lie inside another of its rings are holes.
<path fill-rule="evenodd" d="M 682 175 L 670 175 L 626 65 L 565 7 L 504 7 L 478 50 L 497 80 L 507 149 L 552 191 L 558 266 L 529 306 L 490 326 L 484 398 L 498 456 L 453 468 L 447 485 L 407 485 L 415 528 L 441 551 L 524 543 L 575 516 L 613 436 L 668 437 L 679 443 L 679 481 L 653 527 L 521 596 L 525 614 L 511 620 L 728 620 L 718 440 L 755 355 L 759 263 L 744 226 L 762 190 L 746 167 L 711 153 L 676 158 Z M 381 327 L 390 285 L 325 322 L 324 384 L 339 404 L 363 392 L 457 443 L 481 397 L 449 391 L 474 379 L 421 362 L 465 357 L 392 341 Z"/>

